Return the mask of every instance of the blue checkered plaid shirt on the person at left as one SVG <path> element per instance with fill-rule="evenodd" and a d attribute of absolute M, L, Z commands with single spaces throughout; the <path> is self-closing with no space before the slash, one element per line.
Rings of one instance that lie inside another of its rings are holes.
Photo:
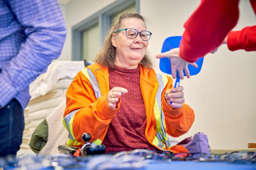
<path fill-rule="evenodd" d="M 29 84 L 61 54 L 66 27 L 57 0 L 0 0 L 0 106 L 24 109 Z"/>

